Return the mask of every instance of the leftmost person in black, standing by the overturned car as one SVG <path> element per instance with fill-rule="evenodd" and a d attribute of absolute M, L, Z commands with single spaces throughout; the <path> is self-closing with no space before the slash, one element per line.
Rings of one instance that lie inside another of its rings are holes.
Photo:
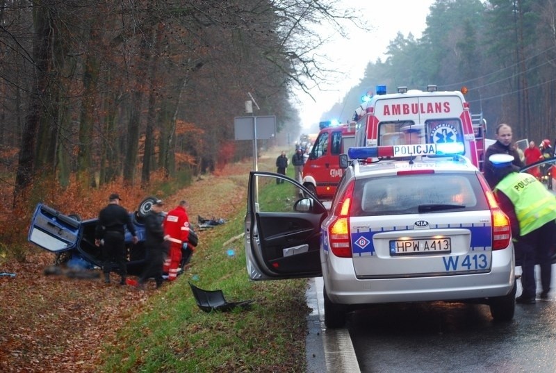
<path fill-rule="evenodd" d="M 117 263 L 120 267 L 120 285 L 125 285 L 127 276 L 126 267 L 126 246 L 125 246 L 125 228 L 133 235 L 133 244 L 139 240 L 135 231 L 135 226 L 131 222 L 131 217 L 126 209 L 120 206 L 120 195 L 111 194 L 108 197 L 108 206 L 103 208 L 99 213 L 99 220 L 95 229 L 95 245 L 101 247 L 104 257 L 104 282 L 110 283 L 110 272 L 113 263 Z"/>

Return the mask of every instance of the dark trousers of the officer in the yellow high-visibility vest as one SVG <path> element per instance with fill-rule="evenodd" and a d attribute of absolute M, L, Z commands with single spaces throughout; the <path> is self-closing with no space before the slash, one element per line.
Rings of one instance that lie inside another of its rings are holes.
<path fill-rule="evenodd" d="M 516 242 L 516 251 L 522 257 L 521 285 L 523 297 L 537 296 L 537 282 L 534 276 L 534 266 L 541 267 L 541 285 L 543 292 L 550 291 L 550 276 L 552 276 L 552 255 L 554 252 L 554 238 L 556 223 L 550 221 L 539 229 L 521 236 Z"/>

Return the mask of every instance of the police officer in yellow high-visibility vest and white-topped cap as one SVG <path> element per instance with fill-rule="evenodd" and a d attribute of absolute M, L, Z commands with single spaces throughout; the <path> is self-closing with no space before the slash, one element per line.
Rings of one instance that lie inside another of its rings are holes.
<path fill-rule="evenodd" d="M 551 259 L 555 249 L 556 196 L 531 174 L 518 173 L 517 167 L 512 165 L 513 156 L 494 154 L 489 160 L 493 165 L 493 181 L 496 182 L 494 194 L 500 208 L 509 217 L 516 254 L 522 258 L 523 292 L 516 302 L 536 302 L 535 263 L 541 267 L 540 298 L 548 299 Z"/>

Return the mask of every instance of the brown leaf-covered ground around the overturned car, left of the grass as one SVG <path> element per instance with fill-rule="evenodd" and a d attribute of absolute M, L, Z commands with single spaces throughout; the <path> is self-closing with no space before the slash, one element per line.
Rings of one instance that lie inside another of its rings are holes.
<path fill-rule="evenodd" d="M 245 208 L 250 166 L 231 165 L 218 175 L 202 176 L 166 199 L 166 206 L 186 198 L 191 222 L 197 215 L 226 219 Z M 202 232 L 197 249 L 202 250 Z M 103 345 L 141 312 L 149 294 L 164 291 L 152 283 L 146 292 L 118 285 L 115 274 L 109 285 L 99 278 L 43 274 L 53 260 L 52 254 L 33 248 L 25 263 L 0 261 L 0 272 L 15 273 L 0 276 L 0 372 L 94 372 Z"/>

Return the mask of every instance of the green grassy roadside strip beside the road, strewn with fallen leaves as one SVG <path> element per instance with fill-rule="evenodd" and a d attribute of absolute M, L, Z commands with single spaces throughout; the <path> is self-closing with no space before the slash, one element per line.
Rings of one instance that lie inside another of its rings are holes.
<path fill-rule="evenodd" d="M 266 166 L 272 169 L 274 156 Z M 270 166 L 269 166 L 270 165 Z M 290 167 L 292 168 L 292 167 Z M 288 173 L 293 170 L 288 169 Z M 247 184 L 247 175 L 244 178 Z M 270 185 L 272 186 L 272 185 Z M 203 248 L 179 280 L 151 292 L 108 342 L 102 372 L 304 372 L 306 280 L 248 279 L 243 238 L 245 196 L 227 224 L 204 231 Z M 218 201 L 211 201 L 217 203 Z M 233 250 L 234 256 L 228 251 Z M 204 313 L 188 281 L 222 289 L 227 299 L 256 299 L 250 310 Z"/>

